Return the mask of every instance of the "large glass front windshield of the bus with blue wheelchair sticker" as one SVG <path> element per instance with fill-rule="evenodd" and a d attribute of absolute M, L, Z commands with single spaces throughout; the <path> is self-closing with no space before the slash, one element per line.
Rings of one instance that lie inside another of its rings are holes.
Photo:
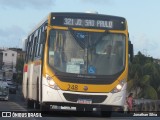
<path fill-rule="evenodd" d="M 125 35 L 52 29 L 48 63 L 61 73 L 114 75 L 125 67 Z"/>

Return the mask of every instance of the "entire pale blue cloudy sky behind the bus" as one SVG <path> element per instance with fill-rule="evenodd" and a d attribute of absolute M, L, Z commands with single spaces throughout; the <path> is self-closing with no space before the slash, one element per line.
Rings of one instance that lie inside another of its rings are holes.
<path fill-rule="evenodd" d="M 22 39 L 50 12 L 97 11 L 128 22 L 134 54 L 160 59 L 160 0 L 0 0 L 0 48 Z"/>

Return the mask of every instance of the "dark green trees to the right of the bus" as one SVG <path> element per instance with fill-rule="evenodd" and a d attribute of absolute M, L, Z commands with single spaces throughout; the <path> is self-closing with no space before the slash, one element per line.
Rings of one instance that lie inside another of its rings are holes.
<path fill-rule="evenodd" d="M 160 65 L 152 57 L 138 52 L 129 66 L 128 91 L 134 90 L 136 97 L 146 99 L 160 98 Z M 140 89 L 138 91 L 137 89 Z"/>

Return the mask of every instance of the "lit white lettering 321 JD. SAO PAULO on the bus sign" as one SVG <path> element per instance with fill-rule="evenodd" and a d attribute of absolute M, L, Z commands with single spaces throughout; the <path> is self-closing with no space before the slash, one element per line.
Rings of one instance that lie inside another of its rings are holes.
<path fill-rule="evenodd" d="M 112 29 L 113 28 L 113 21 L 79 19 L 79 18 L 64 18 L 63 25 Z"/>

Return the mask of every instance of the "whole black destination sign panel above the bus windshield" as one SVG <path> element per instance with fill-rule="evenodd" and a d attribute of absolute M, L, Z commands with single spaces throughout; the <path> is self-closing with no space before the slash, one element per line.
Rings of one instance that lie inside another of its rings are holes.
<path fill-rule="evenodd" d="M 106 15 L 52 14 L 51 25 L 77 28 L 125 30 L 125 19 Z"/>

